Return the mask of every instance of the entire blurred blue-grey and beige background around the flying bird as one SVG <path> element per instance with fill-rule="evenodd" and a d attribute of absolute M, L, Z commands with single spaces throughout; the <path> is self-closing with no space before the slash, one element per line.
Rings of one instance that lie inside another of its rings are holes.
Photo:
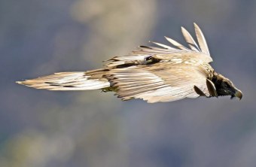
<path fill-rule="evenodd" d="M 255 166 L 256 1 L 1 0 L 0 166 Z M 244 97 L 121 102 L 99 90 L 15 83 L 101 68 L 181 26 L 203 29 L 216 71 Z"/>

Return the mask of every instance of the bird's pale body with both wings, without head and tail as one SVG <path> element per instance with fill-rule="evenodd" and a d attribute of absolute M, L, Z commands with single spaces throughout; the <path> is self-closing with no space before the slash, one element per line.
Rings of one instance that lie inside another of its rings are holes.
<path fill-rule="evenodd" d="M 110 59 L 111 62 L 106 64 L 106 67 L 112 68 L 108 79 L 117 88 L 118 97 L 123 100 L 135 98 L 148 102 L 171 102 L 198 96 L 215 96 L 215 88 L 207 82 L 213 73 L 209 65 L 212 57 L 203 32 L 195 23 L 194 27 L 198 44 L 181 27 L 190 48 L 166 37 L 173 47 L 153 42 L 160 47 L 142 46 L 129 56 Z"/>

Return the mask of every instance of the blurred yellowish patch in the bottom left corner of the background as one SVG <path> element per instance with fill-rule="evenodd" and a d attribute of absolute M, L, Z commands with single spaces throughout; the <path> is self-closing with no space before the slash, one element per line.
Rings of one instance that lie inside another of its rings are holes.
<path fill-rule="evenodd" d="M 47 136 L 33 129 L 17 134 L 6 144 L 0 166 L 47 166 L 50 159 L 67 160 L 74 149 L 69 136 Z"/>

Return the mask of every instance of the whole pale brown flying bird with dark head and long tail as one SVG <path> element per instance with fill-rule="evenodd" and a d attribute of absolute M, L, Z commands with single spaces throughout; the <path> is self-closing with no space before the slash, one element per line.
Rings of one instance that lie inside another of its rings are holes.
<path fill-rule="evenodd" d="M 57 72 L 19 84 L 43 90 L 102 90 L 114 92 L 123 101 L 143 99 L 148 103 L 184 98 L 230 96 L 242 99 L 242 91 L 210 65 L 212 56 L 200 27 L 194 23 L 197 41 L 181 27 L 188 47 L 165 36 L 171 46 L 151 42 L 126 56 L 103 61 L 90 71 Z"/>

